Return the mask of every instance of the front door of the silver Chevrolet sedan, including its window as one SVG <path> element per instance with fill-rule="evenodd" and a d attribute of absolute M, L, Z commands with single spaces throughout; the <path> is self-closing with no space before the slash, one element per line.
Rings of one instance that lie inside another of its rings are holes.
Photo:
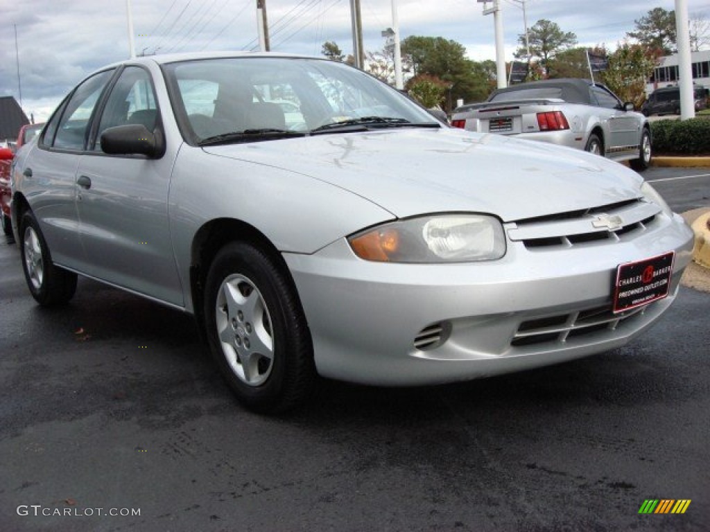
<path fill-rule="evenodd" d="M 101 133 L 109 127 L 143 124 L 149 131 L 162 127 L 151 74 L 142 67 L 125 67 L 97 123 L 92 150 L 82 157 L 77 170 L 84 271 L 182 306 L 168 224 L 174 157 L 107 155 L 101 150 Z"/>

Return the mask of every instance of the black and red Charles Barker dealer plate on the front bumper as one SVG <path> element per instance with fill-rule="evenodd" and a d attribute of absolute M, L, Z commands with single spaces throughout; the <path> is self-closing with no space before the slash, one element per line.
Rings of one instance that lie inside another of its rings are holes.
<path fill-rule="evenodd" d="M 675 252 L 638 262 L 627 262 L 616 268 L 614 312 L 635 309 L 663 299 L 670 290 Z"/>

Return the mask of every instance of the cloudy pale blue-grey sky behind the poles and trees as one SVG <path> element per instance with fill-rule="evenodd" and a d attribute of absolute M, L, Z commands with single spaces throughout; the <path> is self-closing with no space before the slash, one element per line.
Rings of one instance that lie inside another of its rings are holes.
<path fill-rule="evenodd" d="M 710 18 L 708 0 L 687 3 L 690 16 Z M 501 0 L 507 58 L 523 33 L 520 4 Z M 349 0 L 266 0 L 266 6 L 272 50 L 319 55 L 332 40 L 351 52 Z M 464 45 L 471 59 L 495 59 L 493 16 L 483 16 L 484 4 L 398 0 L 398 6 L 402 38 L 441 36 Z M 526 0 L 525 6 L 530 26 L 547 18 L 576 33 L 580 45 L 614 48 L 636 19 L 655 7 L 670 11 L 674 0 Z M 255 0 L 131 0 L 131 7 L 138 54 L 256 47 Z M 0 0 L 0 13 L 0 96 L 21 99 L 37 121 L 89 72 L 129 56 L 125 0 Z M 365 49 L 381 49 L 391 1 L 361 0 L 361 13 Z"/>

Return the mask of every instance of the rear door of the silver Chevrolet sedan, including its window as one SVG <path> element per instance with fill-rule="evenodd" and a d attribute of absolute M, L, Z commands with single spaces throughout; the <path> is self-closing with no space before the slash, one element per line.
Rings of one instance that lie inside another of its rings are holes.
<path fill-rule="evenodd" d="M 77 232 L 77 166 L 91 118 L 114 72 L 105 70 L 84 80 L 58 107 L 23 170 L 25 194 L 31 198 L 53 261 L 75 270 L 84 262 Z"/>

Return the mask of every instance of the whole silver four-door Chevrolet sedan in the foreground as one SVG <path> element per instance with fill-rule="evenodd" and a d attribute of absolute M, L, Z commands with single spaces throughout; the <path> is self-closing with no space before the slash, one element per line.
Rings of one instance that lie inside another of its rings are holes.
<path fill-rule="evenodd" d="M 616 162 L 449 128 L 364 72 L 270 54 L 90 75 L 18 153 L 12 216 L 39 304 L 78 274 L 194 314 L 258 411 L 318 374 L 434 384 L 617 348 L 692 250 Z"/>

